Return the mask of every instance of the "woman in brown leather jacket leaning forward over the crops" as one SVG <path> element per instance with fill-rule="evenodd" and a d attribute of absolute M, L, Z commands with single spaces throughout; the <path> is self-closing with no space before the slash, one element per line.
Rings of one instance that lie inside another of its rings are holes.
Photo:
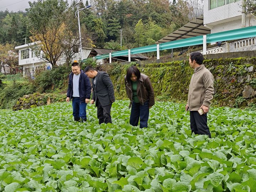
<path fill-rule="evenodd" d="M 154 89 L 148 76 L 131 66 L 124 77 L 126 93 L 130 99 L 130 124 L 140 128 L 148 127 L 149 109 L 155 104 Z"/>

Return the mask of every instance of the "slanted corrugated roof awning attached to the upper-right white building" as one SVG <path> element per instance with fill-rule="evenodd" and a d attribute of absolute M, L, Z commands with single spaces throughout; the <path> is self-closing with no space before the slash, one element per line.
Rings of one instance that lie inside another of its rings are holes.
<path fill-rule="evenodd" d="M 190 37 L 196 37 L 200 35 L 209 34 L 211 30 L 203 25 L 203 16 L 194 18 L 183 27 L 170 33 L 164 38 L 160 39 L 156 43 L 166 43 L 169 41 L 175 41 L 178 39 L 186 39 Z"/>

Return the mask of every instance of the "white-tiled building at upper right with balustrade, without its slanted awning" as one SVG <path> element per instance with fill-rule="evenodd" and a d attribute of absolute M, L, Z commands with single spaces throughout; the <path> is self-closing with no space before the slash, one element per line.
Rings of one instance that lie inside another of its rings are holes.
<path fill-rule="evenodd" d="M 251 15 L 245 15 L 243 21 L 242 2 L 243 0 L 204 0 L 204 26 L 209 28 L 211 33 L 255 26 L 256 19 Z M 256 50 L 255 37 L 222 43 L 219 47 L 207 50 L 207 54 L 246 50 Z"/>

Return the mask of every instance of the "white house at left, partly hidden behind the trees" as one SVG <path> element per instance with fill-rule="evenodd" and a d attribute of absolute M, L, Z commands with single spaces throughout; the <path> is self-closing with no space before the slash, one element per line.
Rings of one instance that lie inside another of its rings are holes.
<path fill-rule="evenodd" d="M 40 57 L 36 56 L 35 50 L 38 47 L 38 43 L 28 43 L 21 46 L 15 47 L 18 50 L 19 62 L 18 64 L 23 66 L 23 76 L 34 76 L 36 70 L 52 68 L 52 65 Z M 83 58 L 87 58 L 91 52 L 91 48 L 82 48 Z M 41 54 L 43 52 L 41 51 Z M 74 60 L 80 60 L 80 53 L 76 53 Z M 60 57 L 57 65 L 63 65 L 65 63 L 65 58 Z"/>

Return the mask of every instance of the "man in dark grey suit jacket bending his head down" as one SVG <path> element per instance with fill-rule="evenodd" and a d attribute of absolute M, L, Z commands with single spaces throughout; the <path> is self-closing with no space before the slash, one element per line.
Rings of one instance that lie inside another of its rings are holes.
<path fill-rule="evenodd" d="M 85 68 L 85 74 L 92 79 L 92 100 L 96 101 L 99 124 L 112 123 L 110 110 L 115 101 L 113 83 L 104 71 L 96 71 L 92 66 Z"/>

